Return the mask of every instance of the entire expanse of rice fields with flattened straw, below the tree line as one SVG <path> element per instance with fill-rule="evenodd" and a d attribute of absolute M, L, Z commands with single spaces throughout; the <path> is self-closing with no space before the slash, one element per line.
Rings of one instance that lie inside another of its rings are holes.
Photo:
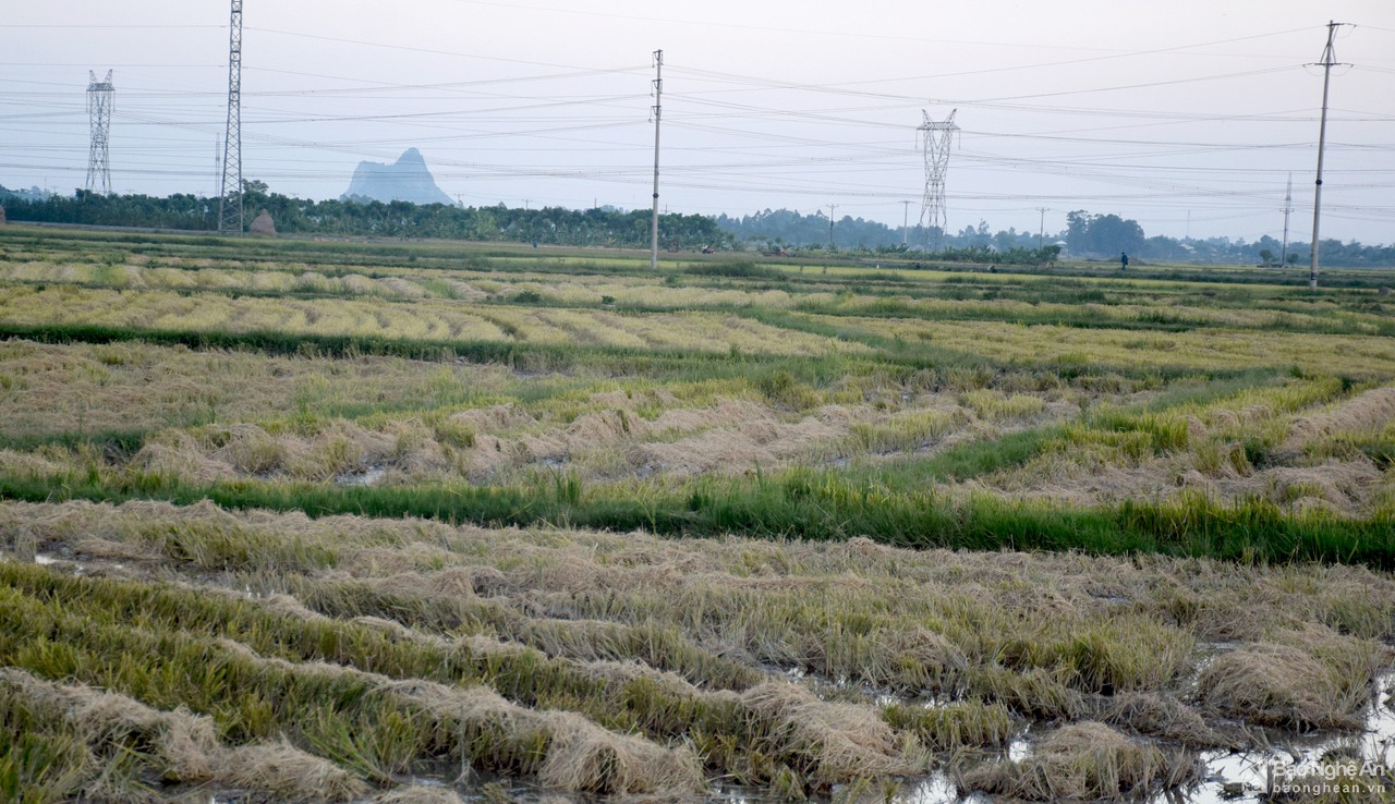
<path fill-rule="evenodd" d="M 1395 796 L 1382 272 L 671 256 L 0 227 L 0 800 Z"/>

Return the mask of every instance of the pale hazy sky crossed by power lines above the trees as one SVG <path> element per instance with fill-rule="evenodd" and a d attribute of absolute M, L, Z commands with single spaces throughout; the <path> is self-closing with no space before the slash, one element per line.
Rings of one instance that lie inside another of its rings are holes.
<path fill-rule="evenodd" d="M 1395 242 L 1391 0 L 244 0 L 243 176 L 336 198 L 417 148 L 467 206 L 660 206 L 915 224 L 925 120 L 953 113 L 947 229 L 1313 230 Z M 230 3 L 11 3 L 0 184 L 85 185 L 89 71 L 112 70 L 117 192 L 216 195 Z M 1292 205 L 1285 195 L 1292 176 Z"/>

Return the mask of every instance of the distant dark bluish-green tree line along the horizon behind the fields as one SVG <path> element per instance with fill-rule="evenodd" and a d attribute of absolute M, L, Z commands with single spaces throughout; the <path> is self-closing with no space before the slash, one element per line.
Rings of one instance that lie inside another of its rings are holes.
<path fill-rule="evenodd" d="M 15 222 L 137 226 L 212 231 L 218 227 L 218 199 L 190 194 L 165 198 L 151 195 L 102 195 L 84 190 L 74 195 L 18 195 L 0 187 L 0 203 Z M 312 201 L 271 192 L 262 181 L 244 183 L 244 206 L 250 223 L 265 209 L 286 234 L 343 237 L 421 237 L 442 240 L 511 241 L 540 245 L 646 248 L 650 212 L 611 206 L 566 209 L 547 206 L 518 209 L 494 206 L 416 205 L 405 201 Z M 848 254 L 894 255 L 930 252 L 964 262 L 1039 265 L 1053 262 L 1060 252 L 1073 259 L 1117 259 L 1127 252 L 1134 259 L 1198 263 L 1278 265 L 1283 245 L 1264 235 L 1257 241 L 1226 237 L 1177 240 L 1148 237 L 1137 220 L 1112 213 L 1074 210 L 1067 227 L 1056 233 L 992 231 L 988 222 L 960 231 L 912 226 L 907 230 L 876 220 L 843 216 L 833 220 L 822 210 L 799 213 L 766 209 L 744 216 L 665 213 L 660 216 L 660 244 L 664 249 L 773 251 L 784 248 L 820 249 L 830 247 Z M 1307 265 L 1309 244 L 1290 242 L 1288 263 Z M 1362 268 L 1395 266 L 1395 245 L 1363 245 L 1324 240 L 1324 265 Z"/>

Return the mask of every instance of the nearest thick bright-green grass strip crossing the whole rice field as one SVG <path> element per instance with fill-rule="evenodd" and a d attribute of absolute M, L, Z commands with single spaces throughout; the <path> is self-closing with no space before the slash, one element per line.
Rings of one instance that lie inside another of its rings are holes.
<path fill-rule="evenodd" d="M 907 548 L 1163 553 L 1239 562 L 1325 562 L 1395 569 L 1395 514 L 1355 518 L 1289 514 L 1262 500 L 1219 503 L 1200 496 L 1070 509 L 988 495 L 950 500 L 893 490 L 833 471 L 792 470 L 777 478 L 702 479 L 671 492 L 582 488 L 555 477 L 533 488 L 416 485 L 338 488 L 259 481 L 187 485 L 158 475 L 119 479 L 95 472 L 0 478 L 0 496 L 20 500 L 124 502 L 209 499 L 229 509 L 300 510 L 311 517 L 424 517 L 481 525 L 576 525 L 664 535 L 739 534 L 841 541 L 868 536 Z"/>

